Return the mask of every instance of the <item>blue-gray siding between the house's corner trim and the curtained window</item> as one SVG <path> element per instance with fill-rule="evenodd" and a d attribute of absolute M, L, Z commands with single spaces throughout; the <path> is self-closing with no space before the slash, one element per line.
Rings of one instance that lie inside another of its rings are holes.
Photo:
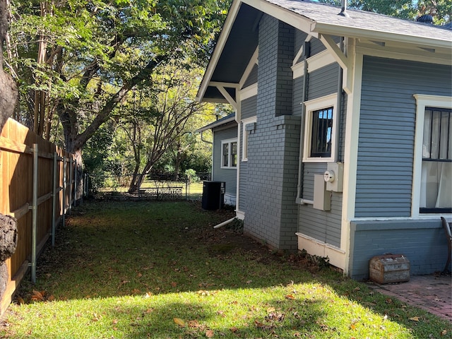
<path fill-rule="evenodd" d="M 451 95 L 451 67 L 364 57 L 356 217 L 411 215 L 416 102 Z"/>

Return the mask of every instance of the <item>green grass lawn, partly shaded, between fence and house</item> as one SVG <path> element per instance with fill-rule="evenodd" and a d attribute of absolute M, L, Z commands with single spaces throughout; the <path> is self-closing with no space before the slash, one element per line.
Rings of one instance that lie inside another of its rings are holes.
<path fill-rule="evenodd" d="M 0 338 L 451 338 L 451 323 L 278 254 L 199 202 L 87 201 Z"/>

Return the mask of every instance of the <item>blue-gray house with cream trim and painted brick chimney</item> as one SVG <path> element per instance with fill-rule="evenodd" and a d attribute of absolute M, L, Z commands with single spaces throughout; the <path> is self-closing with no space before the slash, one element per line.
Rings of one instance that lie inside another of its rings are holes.
<path fill-rule="evenodd" d="M 443 270 L 451 47 L 451 30 L 428 23 L 234 0 L 198 98 L 235 109 L 244 232 L 328 257 L 355 279 L 388 253 L 408 257 L 412 275 Z"/>

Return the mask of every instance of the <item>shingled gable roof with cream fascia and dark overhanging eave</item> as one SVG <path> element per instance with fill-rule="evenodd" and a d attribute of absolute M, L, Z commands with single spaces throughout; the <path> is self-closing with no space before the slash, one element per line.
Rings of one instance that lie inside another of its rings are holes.
<path fill-rule="evenodd" d="M 452 47 L 452 31 L 446 26 L 353 9 L 347 9 L 347 18 L 338 15 L 339 7 L 314 1 L 234 0 L 198 90 L 198 100 L 225 102 L 211 83 L 230 84 L 225 90 L 235 98 L 234 84 L 239 83 L 256 50 L 257 28 L 263 13 L 314 37 L 321 34 L 355 37 L 429 49 Z"/>

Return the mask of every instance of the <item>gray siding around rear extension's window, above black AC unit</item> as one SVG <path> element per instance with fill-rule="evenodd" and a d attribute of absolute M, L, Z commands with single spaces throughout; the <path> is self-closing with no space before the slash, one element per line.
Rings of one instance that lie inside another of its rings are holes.
<path fill-rule="evenodd" d="M 226 183 L 226 193 L 236 196 L 237 169 L 221 168 L 221 141 L 237 138 L 237 126 L 233 129 L 213 131 L 213 173 L 212 180 Z"/>

